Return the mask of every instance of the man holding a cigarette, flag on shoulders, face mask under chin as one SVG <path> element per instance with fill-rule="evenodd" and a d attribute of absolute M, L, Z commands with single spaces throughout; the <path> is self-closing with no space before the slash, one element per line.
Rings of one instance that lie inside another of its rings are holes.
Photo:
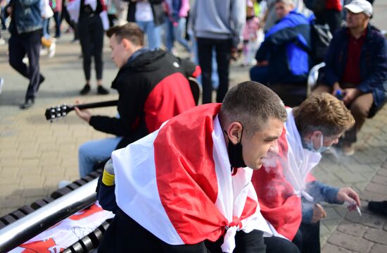
<path fill-rule="evenodd" d="M 343 102 L 326 92 L 312 94 L 287 112 L 278 150 L 268 154 L 252 182 L 273 234 L 292 240 L 300 252 L 318 253 L 319 220 L 326 217 L 319 203 L 345 203 L 353 211 L 360 199 L 350 187 L 325 185 L 310 171 L 319 163 L 320 153 L 336 144 L 355 121 Z"/>

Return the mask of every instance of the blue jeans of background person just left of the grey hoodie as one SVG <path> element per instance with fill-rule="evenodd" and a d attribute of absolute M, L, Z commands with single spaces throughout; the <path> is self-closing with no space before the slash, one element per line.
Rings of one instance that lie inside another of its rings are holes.
<path fill-rule="evenodd" d="M 184 39 L 184 29 L 186 28 L 186 18 L 173 17 L 173 20 L 176 20 L 177 23 L 174 24 L 170 18 L 165 18 L 165 46 L 168 51 L 172 51 L 173 43 L 175 40 L 179 42 L 186 51 L 191 51 L 188 42 Z"/>

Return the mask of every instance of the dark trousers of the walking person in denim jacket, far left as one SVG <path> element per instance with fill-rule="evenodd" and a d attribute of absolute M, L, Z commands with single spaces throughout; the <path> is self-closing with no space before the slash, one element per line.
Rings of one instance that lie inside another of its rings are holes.
<path fill-rule="evenodd" d="M 25 94 L 25 100 L 34 100 L 39 89 L 39 80 L 43 77 L 39 73 L 39 53 L 42 38 L 42 30 L 17 35 L 11 34 L 8 41 L 9 64 L 18 73 L 30 80 Z M 23 57 L 27 54 L 28 66 L 23 63 Z"/>

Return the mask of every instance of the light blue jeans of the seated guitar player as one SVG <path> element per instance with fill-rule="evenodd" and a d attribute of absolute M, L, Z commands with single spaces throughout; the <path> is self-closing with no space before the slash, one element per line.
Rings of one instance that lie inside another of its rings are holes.
<path fill-rule="evenodd" d="M 121 140 L 122 137 L 109 137 L 84 142 L 80 146 L 80 149 L 78 149 L 78 163 L 81 178 L 91 173 L 91 171 L 94 171 L 96 163 L 109 159 L 117 147 L 118 142 Z"/>

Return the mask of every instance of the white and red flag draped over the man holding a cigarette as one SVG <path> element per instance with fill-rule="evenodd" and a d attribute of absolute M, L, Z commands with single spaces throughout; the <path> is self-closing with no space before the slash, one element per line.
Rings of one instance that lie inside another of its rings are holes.
<path fill-rule="evenodd" d="M 258 195 L 261 213 L 274 228 L 274 235 L 293 240 L 300 226 L 301 199 L 312 200 L 305 192 L 307 181 L 314 180 L 310 171 L 321 154 L 303 148 L 292 109 L 286 109 L 288 119 L 279 137 L 279 152 L 264 163 L 251 179 Z"/>

